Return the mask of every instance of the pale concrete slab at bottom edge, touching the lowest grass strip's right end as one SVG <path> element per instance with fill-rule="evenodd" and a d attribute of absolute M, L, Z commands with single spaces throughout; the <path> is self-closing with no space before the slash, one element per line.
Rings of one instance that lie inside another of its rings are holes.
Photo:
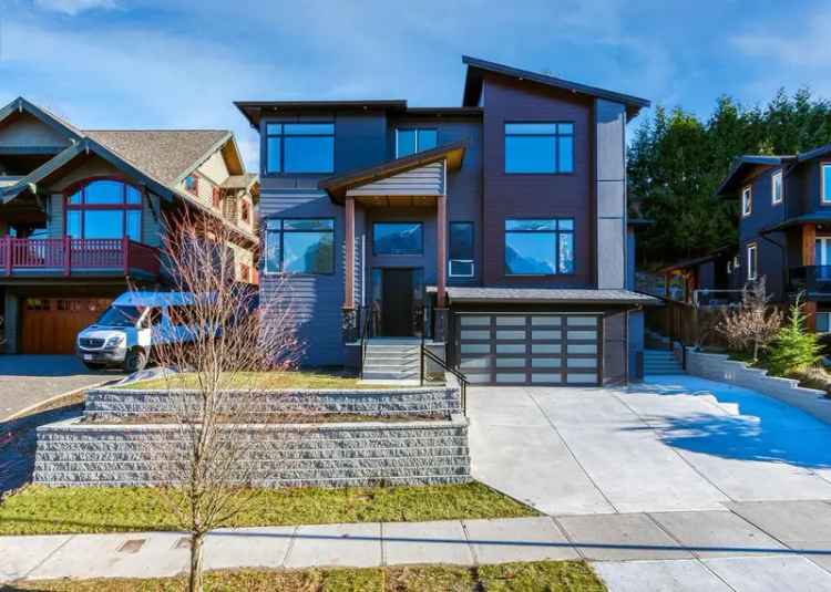
<path fill-rule="evenodd" d="M 699 561 L 599 561 L 592 567 L 609 592 L 733 592 Z"/>

